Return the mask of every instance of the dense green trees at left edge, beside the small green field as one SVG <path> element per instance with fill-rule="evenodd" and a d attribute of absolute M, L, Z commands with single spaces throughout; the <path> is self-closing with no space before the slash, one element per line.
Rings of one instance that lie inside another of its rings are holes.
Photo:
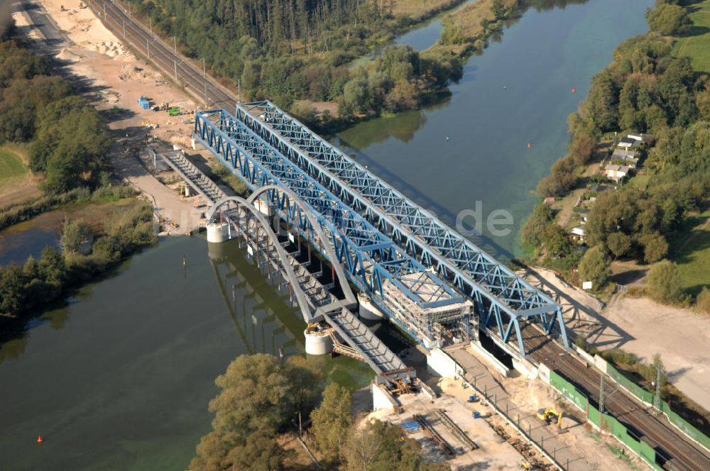
<path fill-rule="evenodd" d="M 108 127 L 52 69 L 16 40 L 0 42 L 0 144 L 33 143 L 30 167 L 46 176 L 47 192 L 98 187 L 107 170 Z"/>

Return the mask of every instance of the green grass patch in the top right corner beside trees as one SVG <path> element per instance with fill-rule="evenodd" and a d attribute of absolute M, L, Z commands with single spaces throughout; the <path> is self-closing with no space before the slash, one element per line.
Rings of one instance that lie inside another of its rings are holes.
<path fill-rule="evenodd" d="M 693 28 L 687 35 L 678 38 L 673 54 L 690 57 L 697 72 L 710 72 L 710 0 L 687 6 Z"/>

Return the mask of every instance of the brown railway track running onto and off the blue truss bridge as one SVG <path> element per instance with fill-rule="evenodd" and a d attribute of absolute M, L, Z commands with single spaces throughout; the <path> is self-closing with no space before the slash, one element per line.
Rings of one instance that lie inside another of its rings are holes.
<path fill-rule="evenodd" d="M 107 0 L 90 0 L 89 6 L 118 38 L 148 57 L 167 77 L 172 77 L 178 84 L 184 84 L 186 91 L 202 101 L 204 106 L 234 110 L 234 94 L 206 77 L 190 60 L 177 54 L 174 48 L 156 38 L 145 26 L 133 21 L 121 6 Z M 527 324 L 523 327 L 523 340 L 532 358 L 545 362 L 550 369 L 577 384 L 592 401 L 599 401 L 599 372 L 584 367 L 550 338 Z M 605 388 L 605 394 L 609 392 Z M 652 442 L 650 444 L 656 445 L 659 454 L 666 458 L 662 464 L 665 469 L 670 469 L 672 465 L 674 471 L 710 471 L 710 457 L 704 450 L 651 414 L 626 392 L 618 390 L 605 398 L 606 409 L 616 419 L 634 428 L 640 436 Z"/>

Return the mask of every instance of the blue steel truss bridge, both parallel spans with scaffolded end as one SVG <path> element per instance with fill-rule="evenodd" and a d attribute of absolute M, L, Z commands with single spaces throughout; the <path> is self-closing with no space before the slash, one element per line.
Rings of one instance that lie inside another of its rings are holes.
<path fill-rule="evenodd" d="M 425 348 L 481 330 L 525 356 L 528 321 L 568 346 L 555 301 L 270 101 L 198 112 L 194 137 L 251 192 L 288 189 L 260 192 L 262 204 L 301 218 L 311 242 L 318 226 L 334 248 L 321 255 Z"/>

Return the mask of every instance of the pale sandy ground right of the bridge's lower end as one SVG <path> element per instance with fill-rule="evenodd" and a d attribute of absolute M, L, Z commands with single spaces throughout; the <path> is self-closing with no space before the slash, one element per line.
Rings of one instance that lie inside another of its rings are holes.
<path fill-rule="evenodd" d="M 710 410 L 710 317 L 623 294 L 604 305 L 549 270 L 535 272 L 528 280 L 562 304 L 574 333 L 602 350 L 623 348 L 647 361 L 660 353 L 670 382 Z"/>

